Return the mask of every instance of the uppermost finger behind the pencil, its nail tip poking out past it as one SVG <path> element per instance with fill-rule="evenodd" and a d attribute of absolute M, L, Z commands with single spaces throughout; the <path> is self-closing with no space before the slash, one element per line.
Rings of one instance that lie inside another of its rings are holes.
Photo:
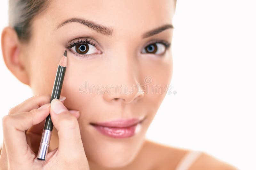
<path fill-rule="evenodd" d="M 63 97 L 64 96 L 60 96 L 60 99 L 63 99 Z M 65 99 L 66 99 L 66 97 L 64 97 L 64 100 Z M 27 111 L 30 111 L 32 109 L 37 109 L 37 108 L 41 107 L 42 105 L 44 105 L 46 103 L 50 103 L 50 100 L 51 100 L 51 95 L 49 95 L 49 94 L 47 94 L 47 95 L 36 95 L 36 96 L 28 98 L 24 102 L 22 102 L 22 103 L 18 104 L 17 106 L 11 108 L 9 110 L 8 114 L 14 114 L 14 113 L 18 113 L 18 112 L 27 112 Z"/>

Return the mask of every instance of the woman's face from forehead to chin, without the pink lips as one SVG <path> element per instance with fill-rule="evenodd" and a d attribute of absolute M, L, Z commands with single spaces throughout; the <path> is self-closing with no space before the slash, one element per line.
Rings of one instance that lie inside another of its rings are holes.
<path fill-rule="evenodd" d="M 124 166 L 139 152 L 172 78 L 171 46 L 164 44 L 171 43 L 173 29 L 148 32 L 172 24 L 173 5 L 172 0 L 54 0 L 34 18 L 32 37 L 21 47 L 29 85 L 34 94 L 51 94 L 67 50 L 61 95 L 68 109 L 80 111 L 89 161 Z M 143 121 L 123 138 L 91 124 L 132 118 Z"/>

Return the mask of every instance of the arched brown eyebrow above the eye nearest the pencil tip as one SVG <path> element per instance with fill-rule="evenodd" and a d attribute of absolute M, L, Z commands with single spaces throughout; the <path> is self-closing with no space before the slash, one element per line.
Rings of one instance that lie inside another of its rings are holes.
<path fill-rule="evenodd" d="M 110 36 L 113 33 L 111 28 L 105 27 L 103 25 L 96 24 L 93 21 L 84 20 L 82 18 L 70 18 L 70 19 L 62 22 L 60 25 L 58 25 L 56 27 L 56 29 L 59 29 L 63 25 L 65 25 L 67 23 L 70 23 L 70 22 L 77 22 L 77 23 L 83 24 L 83 25 L 88 26 L 89 28 L 95 30 L 96 32 L 100 32 L 103 35 Z"/>

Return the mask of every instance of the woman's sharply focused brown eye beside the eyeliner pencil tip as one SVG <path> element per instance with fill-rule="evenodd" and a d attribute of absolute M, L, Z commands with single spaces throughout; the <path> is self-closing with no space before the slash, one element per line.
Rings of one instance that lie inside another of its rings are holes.
<path fill-rule="evenodd" d="M 98 53 L 99 50 L 91 44 L 77 44 L 71 48 L 71 50 L 78 54 L 93 54 Z"/>

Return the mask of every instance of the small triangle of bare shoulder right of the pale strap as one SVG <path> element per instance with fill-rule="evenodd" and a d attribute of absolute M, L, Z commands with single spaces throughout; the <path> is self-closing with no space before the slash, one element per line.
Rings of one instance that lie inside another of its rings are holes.
<path fill-rule="evenodd" d="M 238 170 L 236 167 L 228 164 L 214 156 L 202 152 L 196 161 L 190 166 L 189 170 Z"/>

